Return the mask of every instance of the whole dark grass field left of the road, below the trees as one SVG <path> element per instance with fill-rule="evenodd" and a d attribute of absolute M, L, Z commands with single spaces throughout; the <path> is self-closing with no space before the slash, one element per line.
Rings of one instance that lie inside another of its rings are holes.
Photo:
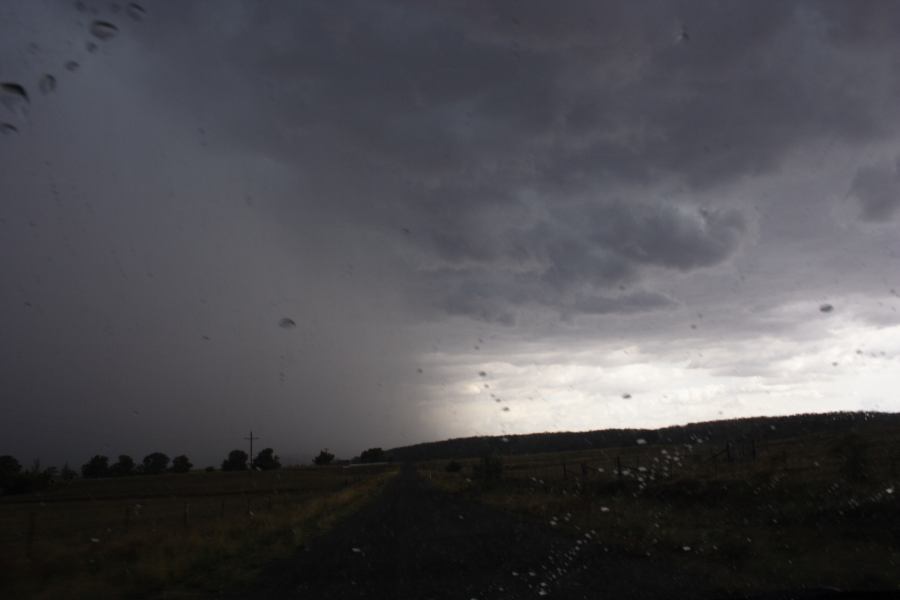
<path fill-rule="evenodd" d="M 390 467 L 76 480 L 0 500 L 0 597 L 189 598 L 251 580 L 374 498 Z"/>

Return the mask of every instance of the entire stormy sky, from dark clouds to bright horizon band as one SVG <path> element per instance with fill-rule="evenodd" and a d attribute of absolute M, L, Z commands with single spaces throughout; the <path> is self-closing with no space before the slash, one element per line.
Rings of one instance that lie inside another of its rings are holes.
<path fill-rule="evenodd" d="M 0 454 L 900 409 L 896 2 L 20 0 L 0 30 Z"/>

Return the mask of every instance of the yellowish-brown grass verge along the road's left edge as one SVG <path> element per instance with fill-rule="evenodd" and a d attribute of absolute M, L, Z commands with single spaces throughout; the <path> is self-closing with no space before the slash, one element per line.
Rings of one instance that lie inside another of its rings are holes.
<path fill-rule="evenodd" d="M 10 598 L 47 599 L 210 595 L 252 581 L 262 566 L 290 556 L 375 498 L 395 474 L 257 499 L 227 518 L 184 518 L 175 529 L 158 521 L 142 527 L 132 522 L 130 530 L 107 528 L 102 536 L 69 543 L 38 539 L 30 557 L 4 555 L 0 590 Z"/>

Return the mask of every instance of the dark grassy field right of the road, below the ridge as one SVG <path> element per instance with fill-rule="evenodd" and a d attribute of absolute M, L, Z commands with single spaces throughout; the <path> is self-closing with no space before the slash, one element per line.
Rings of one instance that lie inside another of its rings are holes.
<path fill-rule="evenodd" d="M 446 490 L 702 574 L 713 591 L 900 589 L 900 428 L 447 461 Z M 729 460 L 730 454 L 730 460 Z"/>

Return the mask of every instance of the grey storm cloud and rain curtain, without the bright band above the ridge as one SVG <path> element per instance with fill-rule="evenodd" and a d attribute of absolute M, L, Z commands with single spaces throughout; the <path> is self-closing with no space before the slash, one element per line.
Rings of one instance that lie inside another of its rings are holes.
<path fill-rule="evenodd" d="M 233 408 L 243 394 L 310 415 L 309 431 L 389 414 L 371 441 L 399 442 L 429 435 L 398 383 L 433 343 L 422 323 L 529 337 L 646 315 L 654 329 L 623 321 L 640 337 L 739 289 L 742 316 L 718 331 L 744 335 L 747 306 L 837 279 L 867 291 L 891 270 L 847 257 L 888 244 L 854 232 L 893 226 L 900 205 L 896 169 L 863 156 L 897 155 L 892 2 L 173 2 L 141 22 L 86 5 L 3 9 L 2 79 L 31 97 L 3 117 L 19 131 L 0 150 L 18 345 L 4 356 L 17 393 L 44 398 L 37 413 L 67 388 L 84 406 L 141 382 L 150 402 L 172 379 L 183 400 L 224 393 L 229 424 L 258 412 Z M 89 52 L 94 18 L 120 31 Z M 46 95 L 44 73 L 58 81 Z M 813 153 L 849 174 L 784 191 Z M 833 218 L 835 186 L 859 223 Z M 24 302 L 45 312 L 23 319 Z M 284 316 L 296 331 L 277 329 Z M 28 391 L 47 344 L 52 372 L 72 351 L 80 367 Z M 101 393 L 110 369 L 127 374 Z M 231 383 L 206 387 L 216 369 Z M 235 381 L 256 377 L 268 383 Z M 329 400 L 278 404 L 307 396 Z M 365 437 L 352 429 L 351 448 Z"/>

